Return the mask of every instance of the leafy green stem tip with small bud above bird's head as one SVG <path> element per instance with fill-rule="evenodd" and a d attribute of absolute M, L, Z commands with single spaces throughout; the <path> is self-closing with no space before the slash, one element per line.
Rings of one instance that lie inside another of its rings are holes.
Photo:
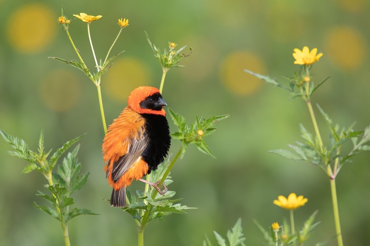
<path fill-rule="evenodd" d="M 168 70 L 171 67 L 183 67 L 182 65 L 177 65 L 183 58 L 188 57 L 192 54 L 193 49 L 190 47 L 190 54 L 185 55 L 181 54 L 181 52 L 187 48 L 187 45 L 182 46 L 178 50 L 174 50 L 169 48 L 167 51 L 166 49 L 163 50 L 163 53 L 159 48 L 157 48 L 149 39 L 149 35 L 145 32 L 145 36 L 147 39 L 147 42 L 151 46 L 152 50 L 154 51 L 154 56 L 158 59 L 158 61 L 161 63 L 163 70 Z"/>

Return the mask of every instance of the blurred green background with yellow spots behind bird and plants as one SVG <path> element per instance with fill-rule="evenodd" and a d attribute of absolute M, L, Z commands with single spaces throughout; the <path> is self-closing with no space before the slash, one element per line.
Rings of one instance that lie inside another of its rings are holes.
<path fill-rule="evenodd" d="M 316 227 L 307 245 L 335 234 L 329 180 L 319 169 L 268 153 L 300 139 L 299 123 L 312 131 L 304 102 L 287 100 L 283 90 L 265 85 L 242 71 L 250 69 L 283 81 L 297 68 L 294 48 L 317 47 L 324 55 L 314 65 L 315 81 L 330 79 L 313 97 L 341 126 L 356 121 L 356 130 L 369 125 L 370 117 L 370 3 L 367 0 L 266 1 L 10 1 L 0 0 L 0 129 L 36 144 L 45 129 L 46 148 L 54 150 L 83 133 L 79 160 L 90 178 L 75 193 L 76 204 L 99 216 L 78 217 L 69 223 L 73 245 L 135 245 L 131 218 L 101 198 L 111 188 L 103 172 L 103 131 L 97 93 L 81 71 L 55 60 L 76 59 L 64 30 L 57 24 L 61 5 L 65 15 L 85 12 L 102 15 L 91 24 L 94 48 L 104 58 L 119 31 L 118 18 L 128 18 L 112 54 L 125 52 L 103 75 L 102 93 L 107 124 L 126 106 L 129 92 L 139 85 L 159 87 L 161 67 L 147 44 L 144 30 L 157 47 L 175 42 L 193 47 L 171 69 L 163 96 L 169 107 L 184 115 L 230 114 L 218 122 L 219 130 L 207 143 L 217 159 L 194 146 L 172 170 L 175 197 L 199 208 L 188 215 L 171 215 L 146 227 L 146 245 L 201 245 L 213 230 L 225 235 L 241 217 L 247 245 L 262 245 L 263 236 L 252 220 L 265 228 L 288 218 L 272 201 L 290 192 L 304 195 L 308 203 L 295 213 L 301 225 L 319 210 Z M 84 60 L 94 66 L 86 24 L 70 27 Z M 325 129 L 318 111 L 318 124 Z M 171 131 L 176 129 L 171 124 Z M 324 140 L 327 131 L 321 130 Z M 174 140 L 171 152 L 179 142 Z M 35 210 L 45 192 L 40 173 L 23 175 L 25 161 L 7 154 L 0 140 L 0 244 L 63 245 L 58 221 Z M 368 245 L 370 234 L 370 153 L 362 153 L 342 169 L 337 179 L 344 242 Z M 135 183 L 131 190 L 143 188 Z M 42 232 L 42 233 L 41 233 Z M 331 240 L 327 245 L 336 245 Z"/>

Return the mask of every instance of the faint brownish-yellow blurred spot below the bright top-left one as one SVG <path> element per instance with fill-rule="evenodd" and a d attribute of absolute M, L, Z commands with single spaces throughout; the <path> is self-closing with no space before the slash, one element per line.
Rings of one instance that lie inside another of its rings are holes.
<path fill-rule="evenodd" d="M 70 109 L 77 103 L 80 92 L 80 81 L 69 70 L 52 70 L 41 81 L 42 101 L 53 111 L 62 112 Z"/>

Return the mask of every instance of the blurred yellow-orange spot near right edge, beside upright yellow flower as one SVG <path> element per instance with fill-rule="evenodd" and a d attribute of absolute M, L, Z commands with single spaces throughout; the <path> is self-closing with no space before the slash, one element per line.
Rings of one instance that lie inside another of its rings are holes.
<path fill-rule="evenodd" d="M 366 53 L 364 38 L 360 32 L 350 27 L 336 27 L 325 37 L 324 55 L 346 70 L 358 68 Z"/>

